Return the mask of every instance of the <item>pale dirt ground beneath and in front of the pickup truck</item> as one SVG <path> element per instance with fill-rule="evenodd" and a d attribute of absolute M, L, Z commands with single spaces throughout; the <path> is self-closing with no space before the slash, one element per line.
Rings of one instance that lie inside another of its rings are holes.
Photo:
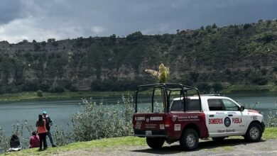
<path fill-rule="evenodd" d="M 119 146 L 104 149 L 86 149 L 60 152 L 57 155 L 277 155 L 277 139 L 261 140 L 259 143 L 246 143 L 243 139 L 226 139 L 220 143 L 212 140 L 201 140 L 194 151 L 183 151 L 179 143 L 165 143 L 161 150 L 148 146 Z"/>

